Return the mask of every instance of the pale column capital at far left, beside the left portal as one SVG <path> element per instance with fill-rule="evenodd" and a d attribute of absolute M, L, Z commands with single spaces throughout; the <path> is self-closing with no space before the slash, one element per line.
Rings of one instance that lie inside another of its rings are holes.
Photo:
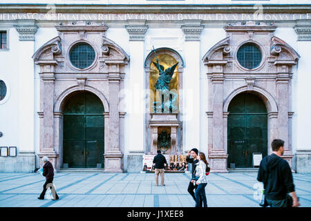
<path fill-rule="evenodd" d="M 35 41 L 38 30 L 35 20 L 19 20 L 14 27 L 19 32 L 19 41 Z"/>

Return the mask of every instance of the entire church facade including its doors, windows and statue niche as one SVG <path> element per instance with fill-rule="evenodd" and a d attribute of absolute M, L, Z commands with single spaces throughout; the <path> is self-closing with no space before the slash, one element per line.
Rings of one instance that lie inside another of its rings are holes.
<path fill-rule="evenodd" d="M 279 138 L 310 173 L 311 5 L 218 2 L 3 1 L 0 171 L 137 173 L 196 147 L 228 172 Z"/>

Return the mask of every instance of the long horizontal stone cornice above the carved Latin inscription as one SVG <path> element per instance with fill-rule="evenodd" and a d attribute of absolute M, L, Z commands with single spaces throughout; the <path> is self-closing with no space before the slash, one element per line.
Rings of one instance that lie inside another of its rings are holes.
<path fill-rule="evenodd" d="M 47 8 L 44 4 L 1 4 L 0 12 L 48 12 L 50 8 Z M 176 12 L 200 12 L 200 13 L 254 13 L 254 4 L 243 4 L 243 5 L 232 5 L 232 4 L 209 4 L 209 5 L 194 5 L 194 4 L 158 4 L 158 5 L 143 5 L 143 4 L 88 4 L 83 5 L 77 4 L 57 4 L 55 5 L 55 12 L 117 12 L 117 13 L 129 13 L 129 12 L 163 12 L 169 13 L 172 10 Z M 278 13 L 284 12 L 285 10 L 292 13 L 310 13 L 310 4 L 284 4 L 284 5 L 263 5 L 265 13 Z"/>

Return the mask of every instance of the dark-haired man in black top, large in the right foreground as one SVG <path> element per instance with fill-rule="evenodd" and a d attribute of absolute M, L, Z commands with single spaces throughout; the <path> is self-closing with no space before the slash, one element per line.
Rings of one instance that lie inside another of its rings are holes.
<path fill-rule="evenodd" d="M 286 160 L 281 158 L 284 153 L 284 141 L 272 141 L 272 154 L 261 160 L 258 170 L 257 180 L 263 182 L 265 189 L 265 199 L 271 207 L 286 207 L 288 203 L 287 195 L 292 196 L 292 206 L 300 206 L 294 183 L 292 180 L 292 170 Z"/>

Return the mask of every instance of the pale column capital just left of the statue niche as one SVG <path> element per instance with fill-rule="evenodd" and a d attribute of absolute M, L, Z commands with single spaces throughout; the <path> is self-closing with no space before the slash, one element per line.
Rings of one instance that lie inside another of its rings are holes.
<path fill-rule="evenodd" d="M 127 20 L 129 25 L 125 26 L 129 32 L 130 41 L 144 41 L 144 33 L 147 32 L 146 20 Z"/>

